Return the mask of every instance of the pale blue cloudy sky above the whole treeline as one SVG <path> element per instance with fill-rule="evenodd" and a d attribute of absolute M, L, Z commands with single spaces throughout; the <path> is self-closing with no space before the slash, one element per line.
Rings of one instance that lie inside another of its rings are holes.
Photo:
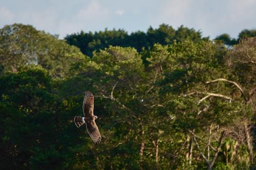
<path fill-rule="evenodd" d="M 60 38 L 105 28 L 145 32 L 161 23 L 237 38 L 243 29 L 256 29 L 256 0 L 0 0 L 0 28 L 15 22 Z"/>

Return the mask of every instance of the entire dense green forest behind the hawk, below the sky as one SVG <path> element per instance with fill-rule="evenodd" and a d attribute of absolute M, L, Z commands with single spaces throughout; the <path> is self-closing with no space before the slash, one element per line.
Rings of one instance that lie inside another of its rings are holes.
<path fill-rule="evenodd" d="M 0 169 L 255 169 L 256 30 L 0 29 Z M 102 142 L 77 128 L 95 96 Z"/>

